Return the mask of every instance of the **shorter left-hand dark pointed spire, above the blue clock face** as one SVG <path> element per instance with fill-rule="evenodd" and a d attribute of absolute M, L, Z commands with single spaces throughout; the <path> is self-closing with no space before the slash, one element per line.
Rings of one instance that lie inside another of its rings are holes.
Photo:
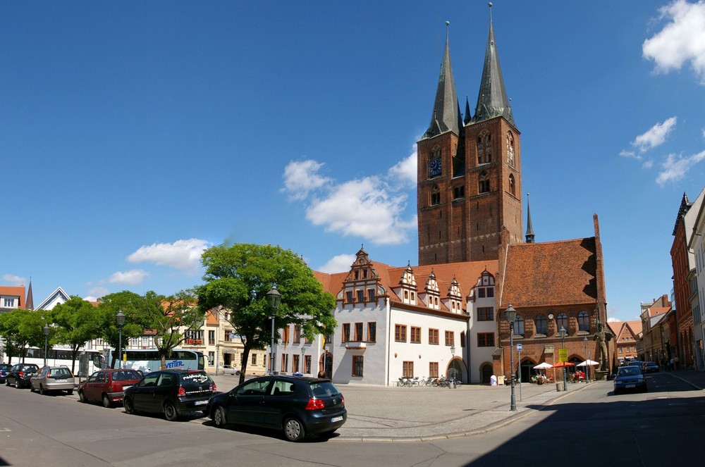
<path fill-rule="evenodd" d="M 448 130 L 454 132 L 455 135 L 460 135 L 460 104 L 458 104 L 458 94 L 455 93 L 453 68 L 450 66 L 448 25 L 450 23 L 446 21 L 446 51 L 443 52 L 443 61 L 441 61 L 441 74 L 439 75 L 439 86 L 436 89 L 434 113 L 431 116 L 431 125 L 424 133 L 424 138 L 434 137 Z"/>

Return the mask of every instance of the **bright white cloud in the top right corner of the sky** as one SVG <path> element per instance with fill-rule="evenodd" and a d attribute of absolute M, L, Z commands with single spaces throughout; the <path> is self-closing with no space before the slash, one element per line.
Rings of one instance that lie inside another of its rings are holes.
<path fill-rule="evenodd" d="M 705 85 L 705 1 L 675 0 L 659 9 L 663 29 L 642 44 L 644 58 L 656 62 L 656 72 L 680 70 L 689 63 Z"/>

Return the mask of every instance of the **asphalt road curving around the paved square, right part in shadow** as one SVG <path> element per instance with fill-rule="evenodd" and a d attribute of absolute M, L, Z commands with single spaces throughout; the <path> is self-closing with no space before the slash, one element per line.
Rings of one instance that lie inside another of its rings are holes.
<path fill-rule="evenodd" d="M 205 418 L 168 422 L 0 386 L 0 465 L 701 465 L 705 393 L 670 375 L 648 378 L 646 394 L 615 396 L 611 383 L 597 382 L 544 410 L 468 437 L 433 442 L 314 438 L 298 444 L 269 431 L 219 430 Z M 437 399 L 445 393 L 430 394 Z"/>

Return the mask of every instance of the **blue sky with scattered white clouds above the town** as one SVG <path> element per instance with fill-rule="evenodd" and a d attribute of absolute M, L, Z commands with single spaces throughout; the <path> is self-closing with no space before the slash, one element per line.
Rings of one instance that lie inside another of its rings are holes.
<path fill-rule="evenodd" d="M 498 0 L 492 17 L 536 239 L 590 237 L 597 213 L 608 313 L 636 319 L 670 294 L 680 199 L 704 187 L 705 4 Z M 0 283 L 31 277 L 35 304 L 171 294 L 222 242 L 326 272 L 362 244 L 417 263 L 446 20 L 474 108 L 484 1 L 2 2 Z"/>

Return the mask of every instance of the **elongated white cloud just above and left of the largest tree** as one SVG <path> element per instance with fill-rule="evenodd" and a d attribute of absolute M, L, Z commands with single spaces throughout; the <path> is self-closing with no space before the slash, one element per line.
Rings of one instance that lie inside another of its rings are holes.
<path fill-rule="evenodd" d="M 201 266 L 204 249 L 212 244 L 206 240 L 190 238 L 173 243 L 154 243 L 140 247 L 128 256 L 130 263 L 154 263 L 170 266 L 187 273 L 196 273 Z"/>

